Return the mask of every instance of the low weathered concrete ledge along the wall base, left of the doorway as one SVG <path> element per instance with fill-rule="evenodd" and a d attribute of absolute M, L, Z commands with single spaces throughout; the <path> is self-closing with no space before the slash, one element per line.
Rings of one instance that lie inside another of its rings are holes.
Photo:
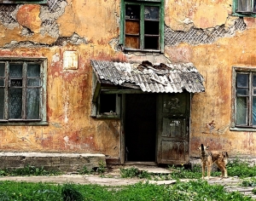
<path fill-rule="evenodd" d="M 106 165 L 105 155 L 92 153 L 0 152 L 0 161 L 0 169 L 16 169 L 29 165 L 64 172 L 75 172 L 84 166 L 93 169 L 102 164 Z"/>

